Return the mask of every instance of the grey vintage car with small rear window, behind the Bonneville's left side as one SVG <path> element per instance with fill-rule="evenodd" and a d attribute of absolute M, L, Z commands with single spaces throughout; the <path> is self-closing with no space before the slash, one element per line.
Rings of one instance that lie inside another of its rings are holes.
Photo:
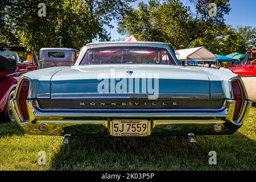
<path fill-rule="evenodd" d="M 40 69 L 72 66 L 76 62 L 78 52 L 70 48 L 42 48 L 39 55 Z"/>

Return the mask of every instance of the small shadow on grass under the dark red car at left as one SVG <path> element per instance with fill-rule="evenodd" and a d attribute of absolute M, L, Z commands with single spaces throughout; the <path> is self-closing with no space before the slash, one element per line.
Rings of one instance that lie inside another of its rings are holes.
<path fill-rule="evenodd" d="M 24 131 L 16 122 L 0 122 L 0 138 L 11 135 L 24 135 Z"/>

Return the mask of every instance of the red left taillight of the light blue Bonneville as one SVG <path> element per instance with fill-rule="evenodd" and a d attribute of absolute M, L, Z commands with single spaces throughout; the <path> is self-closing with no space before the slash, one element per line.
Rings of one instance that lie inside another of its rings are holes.
<path fill-rule="evenodd" d="M 27 96 L 28 96 L 29 86 L 30 86 L 30 82 L 27 80 L 24 80 L 20 85 L 19 96 L 18 96 L 19 108 L 23 115 L 23 119 L 25 120 L 29 119 L 28 110 L 27 110 Z"/>

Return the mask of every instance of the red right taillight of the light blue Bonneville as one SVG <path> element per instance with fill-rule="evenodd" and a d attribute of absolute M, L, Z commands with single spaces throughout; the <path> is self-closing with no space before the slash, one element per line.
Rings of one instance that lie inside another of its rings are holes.
<path fill-rule="evenodd" d="M 236 107 L 234 109 L 233 120 L 237 121 L 244 102 L 242 93 L 243 91 L 241 89 L 241 84 L 238 80 L 232 82 L 232 89 L 234 94 L 234 100 L 236 100 Z"/>

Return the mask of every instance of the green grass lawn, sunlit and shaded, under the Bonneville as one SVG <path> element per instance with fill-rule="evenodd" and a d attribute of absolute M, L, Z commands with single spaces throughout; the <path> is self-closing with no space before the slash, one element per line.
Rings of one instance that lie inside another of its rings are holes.
<path fill-rule="evenodd" d="M 255 170 L 256 105 L 246 124 L 230 136 L 201 136 L 192 145 L 182 137 L 63 137 L 24 134 L 16 123 L 0 123 L 0 170 Z M 46 151 L 47 163 L 38 164 Z M 209 165 L 209 151 L 217 165 Z"/>

